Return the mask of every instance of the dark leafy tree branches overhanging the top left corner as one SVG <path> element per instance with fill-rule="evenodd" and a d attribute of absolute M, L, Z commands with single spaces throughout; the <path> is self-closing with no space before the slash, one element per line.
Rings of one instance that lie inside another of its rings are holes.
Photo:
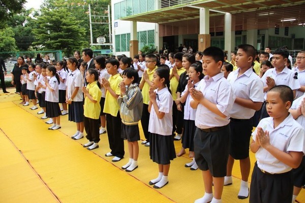
<path fill-rule="evenodd" d="M 26 0 L 0 0 L 0 28 L 5 27 L 5 21 L 23 8 Z"/>

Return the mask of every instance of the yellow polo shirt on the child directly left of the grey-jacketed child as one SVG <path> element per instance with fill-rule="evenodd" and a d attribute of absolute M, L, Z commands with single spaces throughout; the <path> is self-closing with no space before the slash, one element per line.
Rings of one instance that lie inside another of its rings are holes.
<path fill-rule="evenodd" d="M 108 81 L 110 83 L 110 88 L 115 92 L 116 95 L 120 94 L 119 83 L 123 80 L 119 74 L 111 76 Z M 104 113 L 109 113 L 113 117 L 116 117 L 119 110 L 117 98 L 114 98 L 109 91 L 106 92 Z"/>

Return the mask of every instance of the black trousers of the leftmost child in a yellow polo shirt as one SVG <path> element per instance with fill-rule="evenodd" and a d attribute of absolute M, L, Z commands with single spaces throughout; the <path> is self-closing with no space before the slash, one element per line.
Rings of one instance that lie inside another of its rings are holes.
<path fill-rule="evenodd" d="M 94 141 L 98 143 L 100 141 L 100 128 L 99 128 L 100 119 L 90 119 L 84 117 L 84 127 L 87 133 L 86 138 L 89 141 Z"/>

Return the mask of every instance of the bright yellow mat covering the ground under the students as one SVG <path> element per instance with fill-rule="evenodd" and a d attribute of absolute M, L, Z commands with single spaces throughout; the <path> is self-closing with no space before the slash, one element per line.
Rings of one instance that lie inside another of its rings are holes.
<path fill-rule="evenodd" d="M 0 133 L 1 202 L 194 202 L 203 195 L 201 172 L 184 167 L 191 161 L 188 153 L 172 161 L 169 184 L 156 190 L 148 182 L 158 176 L 158 165 L 149 159 L 147 147 L 140 145 L 139 168 L 127 173 L 120 169 L 128 162 L 127 144 L 125 158 L 113 163 L 104 156 L 109 152 L 106 134 L 99 149 L 88 151 L 81 146 L 85 138 L 70 138 L 76 126 L 67 115 L 61 117 L 62 129 L 47 130 L 38 110 L 19 105 L 19 98 L 0 94 L 0 128 L 5 133 Z M 175 148 L 180 150 L 180 141 Z M 251 160 L 253 164 L 253 154 Z M 237 198 L 238 162 L 233 177 L 233 184 L 224 188 L 223 202 L 248 202 Z M 298 200 L 305 202 L 304 197 L 302 191 Z"/>

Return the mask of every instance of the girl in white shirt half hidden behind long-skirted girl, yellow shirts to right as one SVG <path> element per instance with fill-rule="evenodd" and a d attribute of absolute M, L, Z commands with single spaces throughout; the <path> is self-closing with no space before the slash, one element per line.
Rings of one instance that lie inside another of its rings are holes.
<path fill-rule="evenodd" d="M 66 62 L 64 61 L 59 61 L 56 63 L 56 70 L 57 74 L 59 76 L 59 86 L 58 86 L 58 91 L 59 91 L 59 104 L 63 105 L 63 115 L 68 114 L 68 108 L 67 108 L 67 103 L 66 103 L 66 78 L 67 78 L 67 71 L 66 71 Z"/>

